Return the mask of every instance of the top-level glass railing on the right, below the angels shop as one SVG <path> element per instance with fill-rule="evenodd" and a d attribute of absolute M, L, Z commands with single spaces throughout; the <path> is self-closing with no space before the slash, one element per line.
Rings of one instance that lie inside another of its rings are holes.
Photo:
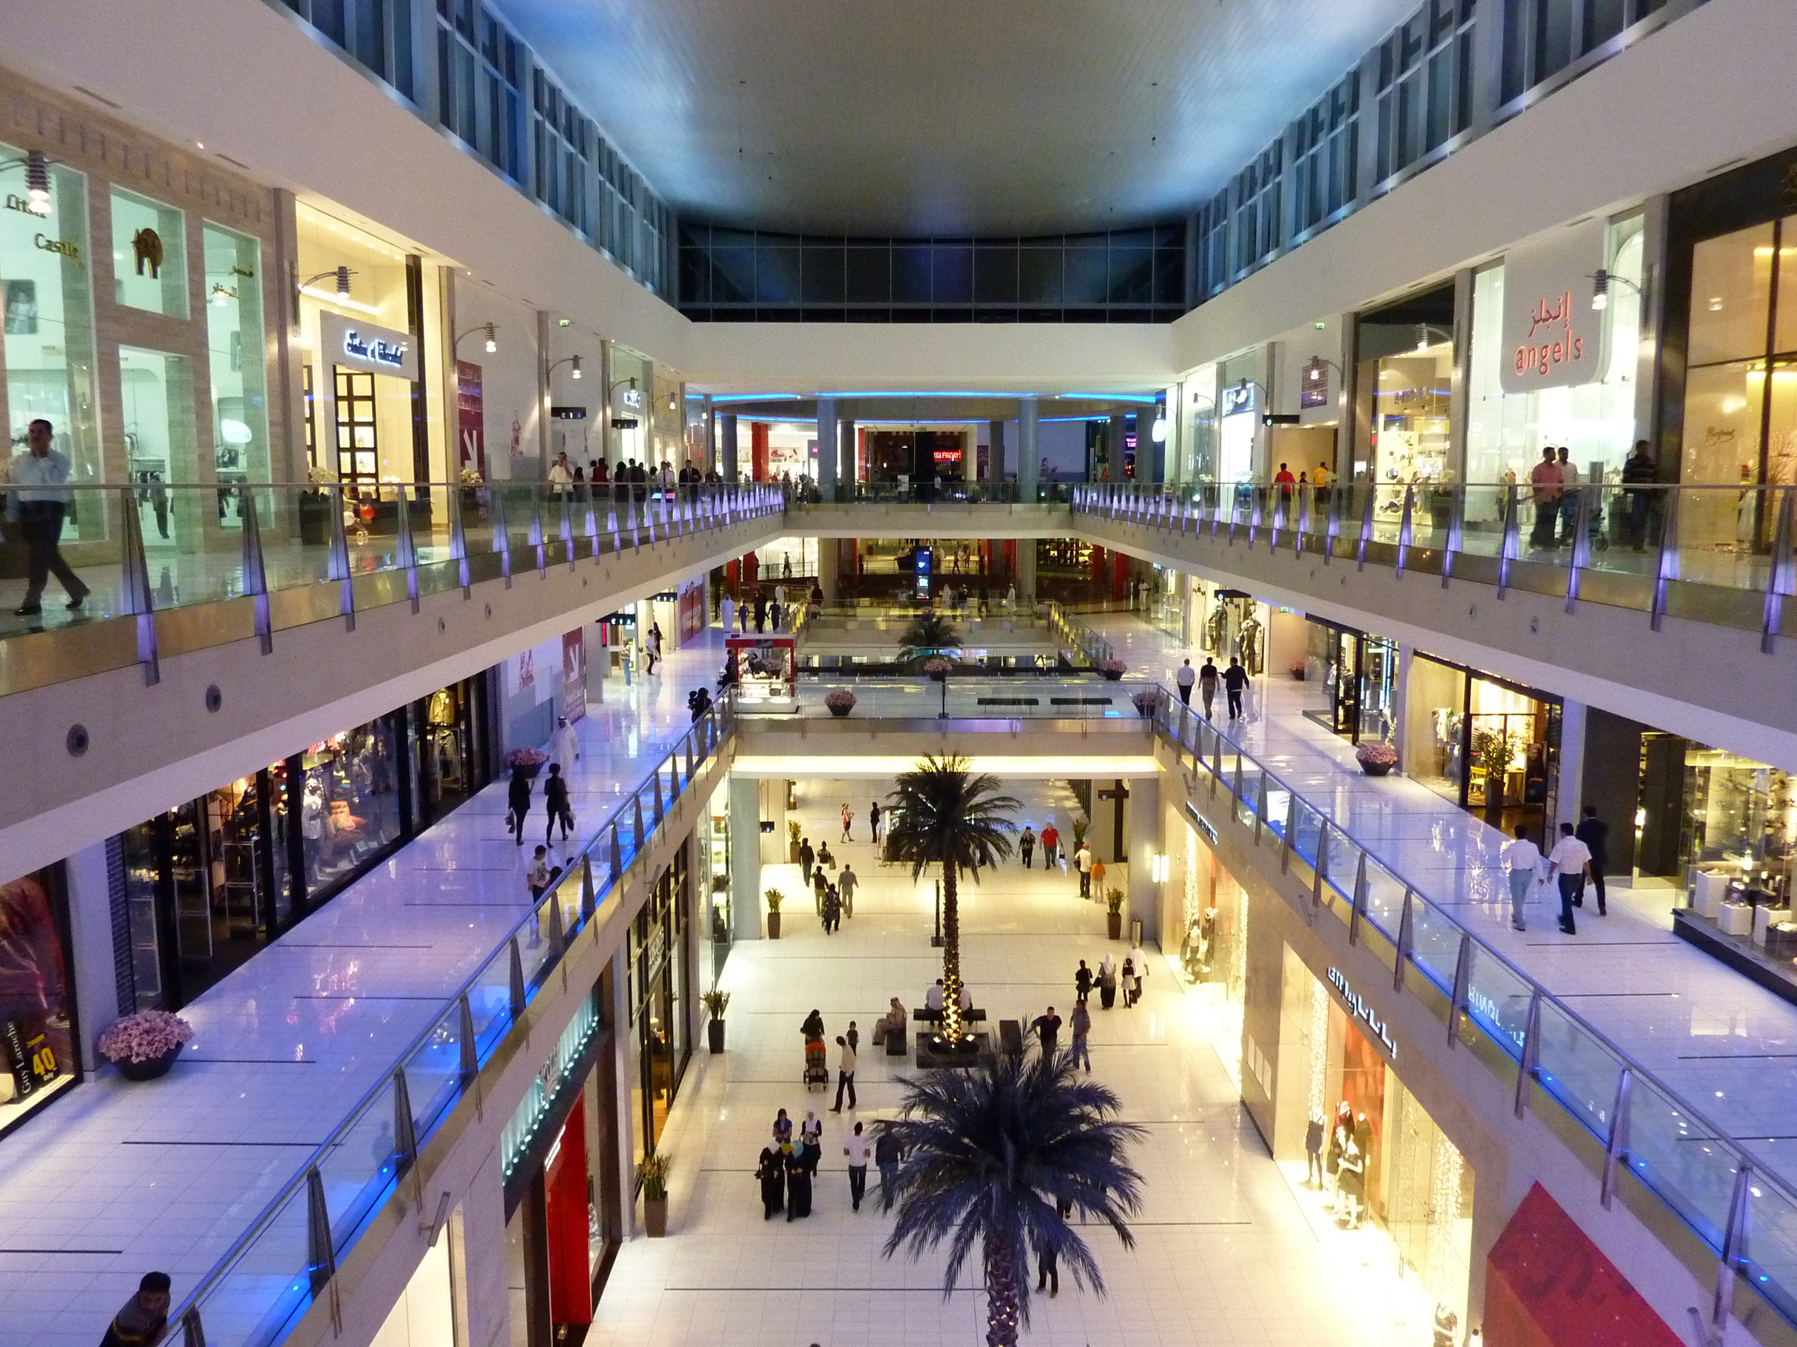
<path fill-rule="evenodd" d="M 1783 600 L 1797 593 L 1797 487 L 1583 483 L 1089 483 L 1075 514 L 1120 519 L 1231 544 L 1319 553 L 1452 575 L 1483 559 L 1499 587 L 1529 577 L 1535 589 L 1581 596 L 1603 584 L 1607 603 L 1666 612 L 1673 585 L 1759 598 L 1743 611 L 1768 639 Z M 1693 612 L 1723 620 L 1711 612 Z"/>

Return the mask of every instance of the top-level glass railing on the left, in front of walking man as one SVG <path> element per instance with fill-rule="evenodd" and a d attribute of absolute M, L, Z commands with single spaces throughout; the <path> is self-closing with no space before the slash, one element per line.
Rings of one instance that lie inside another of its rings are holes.
<path fill-rule="evenodd" d="M 108 618 L 151 618 L 194 603 L 257 598 L 257 632 L 275 621 L 268 598 L 316 591 L 331 612 L 354 614 L 356 582 L 403 575 L 399 600 L 573 564 L 778 514 L 773 485 L 699 483 L 676 490 L 546 483 L 327 483 L 7 487 L 4 528 L 27 539 L 56 532 L 79 609 L 52 578 L 36 612 L 25 582 L 0 582 L 0 638 Z M 622 496 L 622 499 L 620 499 Z M 54 505 L 61 503 L 61 510 Z M 363 585 L 367 589 L 367 585 Z M 316 614 L 307 614 L 311 620 Z M 147 645 L 146 645 L 147 639 Z M 155 623 L 140 623 L 140 659 L 155 661 Z M 93 672 L 93 670 L 88 670 Z"/>

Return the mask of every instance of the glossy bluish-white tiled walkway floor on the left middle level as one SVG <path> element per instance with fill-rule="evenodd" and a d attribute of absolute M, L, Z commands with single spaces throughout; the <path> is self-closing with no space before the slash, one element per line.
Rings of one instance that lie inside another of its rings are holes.
<path fill-rule="evenodd" d="M 588 835 L 692 724 L 721 647 L 713 629 L 589 704 L 570 772 Z M 185 1008 L 167 1078 L 106 1070 L 0 1140 L 0 1342 L 88 1347 L 149 1268 L 183 1297 L 501 945 L 544 823 L 537 790 L 514 846 L 487 787 Z"/>

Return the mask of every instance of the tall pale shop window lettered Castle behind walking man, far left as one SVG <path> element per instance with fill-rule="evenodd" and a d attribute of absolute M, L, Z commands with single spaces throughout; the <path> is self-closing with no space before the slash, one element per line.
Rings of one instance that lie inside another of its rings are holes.
<path fill-rule="evenodd" d="M 5 361 L 7 440 L 25 445 L 25 427 L 43 417 L 68 454 L 74 481 L 102 481 L 95 415 L 93 257 L 88 250 L 86 178 L 50 163 L 47 214 L 13 208 L 27 201 L 25 154 L 0 145 L 0 356 Z M 106 533 L 99 510 L 72 512 L 65 537 Z"/>

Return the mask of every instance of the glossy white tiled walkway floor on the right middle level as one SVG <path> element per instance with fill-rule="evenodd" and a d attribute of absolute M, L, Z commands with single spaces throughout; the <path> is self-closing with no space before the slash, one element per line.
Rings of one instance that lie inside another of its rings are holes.
<path fill-rule="evenodd" d="M 1199 652 L 1130 616 L 1093 625 L 1120 648 L 1130 675 L 1172 684 Z M 1256 679 L 1245 718 L 1229 733 L 1305 801 L 1389 862 L 1517 968 L 1562 997 L 1711 1122 L 1797 1184 L 1797 1006 L 1748 982 L 1671 934 L 1666 891 L 1610 889 L 1598 916 L 1587 891 L 1578 934 L 1531 911 L 1509 929 L 1497 869 L 1504 837 L 1407 778 L 1373 779 L 1346 740 L 1301 715 L 1305 684 Z M 1222 699 L 1217 706 L 1222 711 Z"/>

